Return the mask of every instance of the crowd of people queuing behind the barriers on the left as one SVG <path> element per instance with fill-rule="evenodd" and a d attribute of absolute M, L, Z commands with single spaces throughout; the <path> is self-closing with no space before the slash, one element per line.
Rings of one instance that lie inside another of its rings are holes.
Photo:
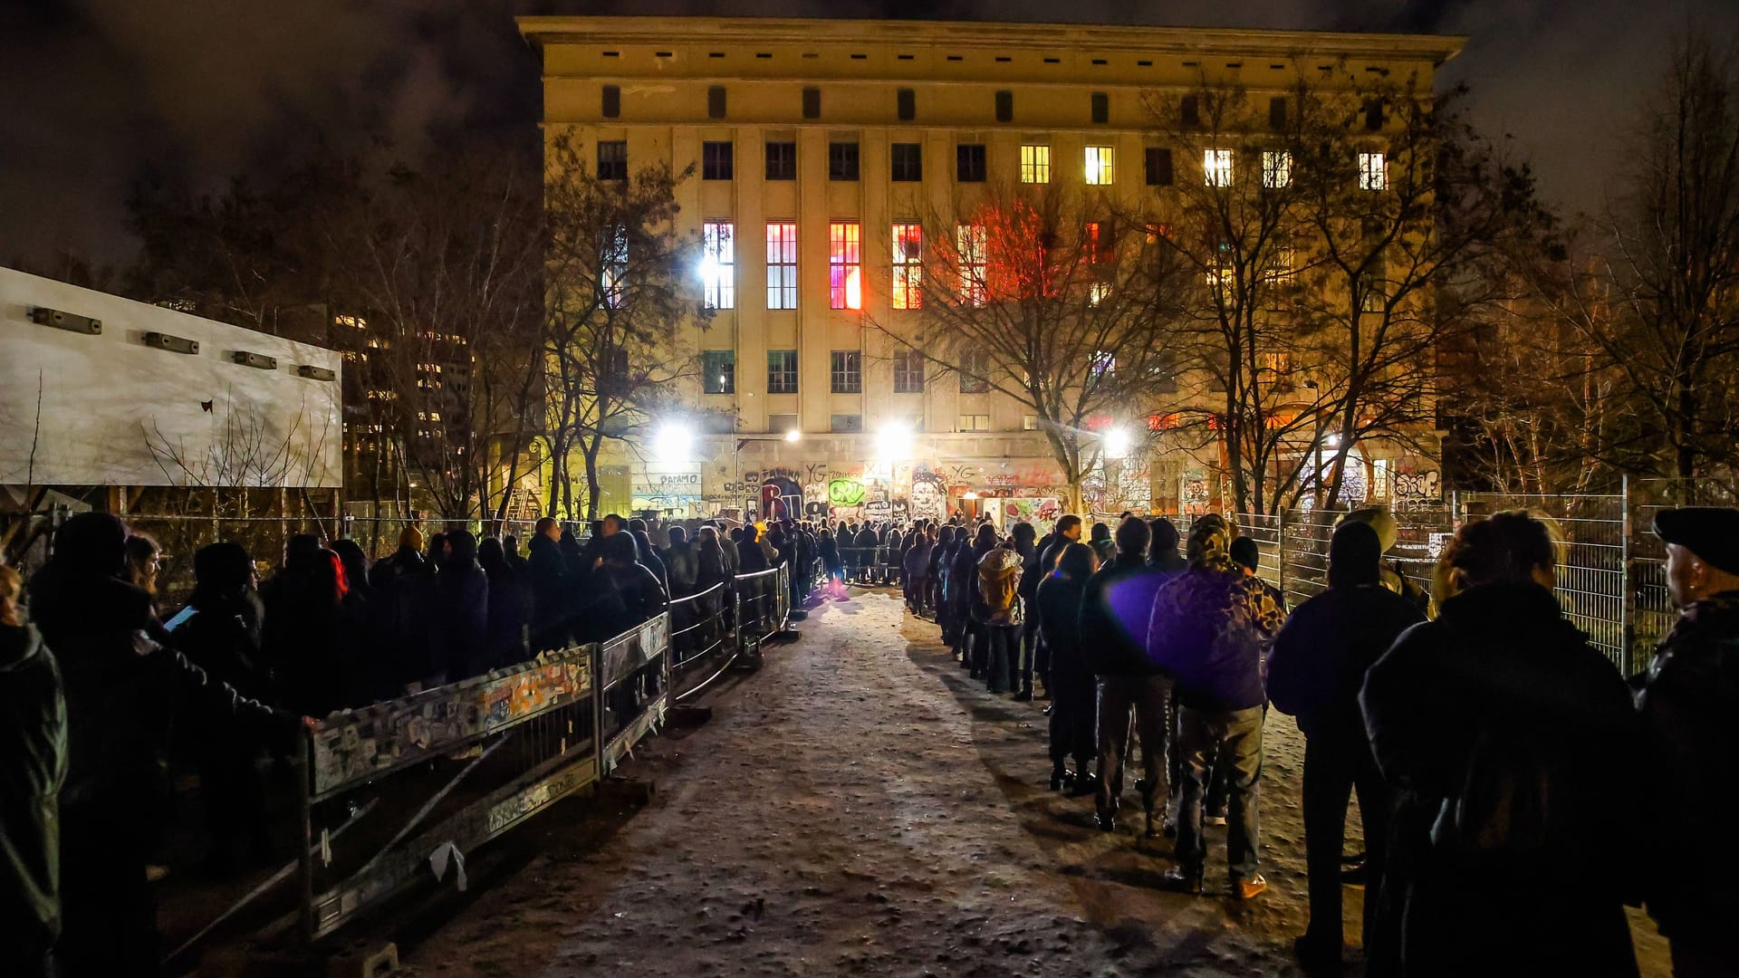
<path fill-rule="evenodd" d="M 577 538 L 405 527 L 372 562 L 353 539 L 292 536 L 261 583 L 233 541 L 193 553 L 195 586 L 160 607 L 160 548 L 80 513 L 28 581 L 0 564 L 0 975 L 153 975 L 151 879 L 169 762 L 198 773 L 205 872 L 273 854 L 270 759 L 311 717 L 610 639 L 694 595 L 699 614 L 763 614 L 737 581 L 817 552 L 800 524 L 659 527 L 605 517 Z M 788 574 L 807 592 L 807 576 Z M 802 595 L 800 595 L 802 597 Z"/>

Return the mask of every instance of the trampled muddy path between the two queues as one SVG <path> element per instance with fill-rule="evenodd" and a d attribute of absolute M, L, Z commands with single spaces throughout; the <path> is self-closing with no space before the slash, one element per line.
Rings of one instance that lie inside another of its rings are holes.
<path fill-rule="evenodd" d="M 1269 891 L 1226 898 L 1210 828 L 1209 894 L 1189 898 L 1160 889 L 1169 841 L 1099 834 L 1089 799 L 1047 790 L 1043 705 L 988 694 L 896 595 L 826 602 L 800 628 L 708 698 L 708 724 L 652 738 L 623 769 L 656 788 L 650 804 L 603 830 L 527 827 L 544 844 L 405 947 L 407 969 L 1297 973 L 1303 740 L 1287 717 L 1266 731 Z M 1139 809 L 1132 790 L 1125 806 Z M 1349 938 L 1360 905 L 1349 889 Z M 1643 973 L 1664 976 L 1662 941 L 1636 933 Z"/>

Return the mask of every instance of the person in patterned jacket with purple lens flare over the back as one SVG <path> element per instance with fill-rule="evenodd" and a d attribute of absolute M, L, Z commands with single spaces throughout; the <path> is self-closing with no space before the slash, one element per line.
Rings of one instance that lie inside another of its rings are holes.
<path fill-rule="evenodd" d="M 1148 626 L 1148 660 L 1177 682 L 1184 787 L 1177 814 L 1177 867 L 1169 882 L 1202 893 L 1207 842 L 1202 795 L 1209 757 L 1226 766 L 1231 893 L 1250 900 L 1268 889 L 1257 867 L 1259 776 L 1263 769 L 1263 653 L 1285 614 L 1261 581 L 1231 562 L 1233 529 L 1217 513 L 1189 526 L 1189 569 L 1160 588 Z"/>

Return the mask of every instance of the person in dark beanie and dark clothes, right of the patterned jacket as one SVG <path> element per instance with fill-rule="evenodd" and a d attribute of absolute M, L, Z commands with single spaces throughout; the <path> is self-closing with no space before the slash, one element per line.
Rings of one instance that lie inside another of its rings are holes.
<path fill-rule="evenodd" d="M 1383 586 L 1383 546 L 1363 522 L 1344 522 L 1329 541 L 1329 590 L 1306 600 L 1280 628 L 1268 663 L 1268 700 L 1297 717 L 1304 734 L 1304 863 L 1309 928 L 1294 945 L 1306 971 L 1341 966 L 1341 847 L 1346 802 L 1358 790 L 1365 868 L 1383 879 L 1395 799 L 1377 773 L 1358 713 L 1365 670 L 1402 632 L 1424 621 L 1419 606 Z M 1365 934 L 1379 894 L 1365 894 Z"/>

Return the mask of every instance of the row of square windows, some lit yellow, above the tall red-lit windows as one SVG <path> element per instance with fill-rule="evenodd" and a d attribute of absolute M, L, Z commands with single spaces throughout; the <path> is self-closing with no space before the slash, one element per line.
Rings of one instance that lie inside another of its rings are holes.
<path fill-rule="evenodd" d="M 1231 186 L 1235 178 L 1233 150 L 1203 150 L 1202 179 L 1207 186 Z M 859 144 L 850 141 L 828 143 L 828 179 L 856 181 L 861 174 Z M 894 183 L 923 179 L 923 144 L 894 143 L 890 146 L 889 174 Z M 767 141 L 767 179 L 796 179 L 796 143 Z M 1263 186 L 1287 186 L 1292 181 L 1292 153 L 1263 151 Z M 1172 151 L 1165 146 L 1143 150 L 1143 176 L 1148 186 L 1172 184 Z M 955 146 L 955 181 L 984 183 L 989 176 L 989 155 L 983 143 Z M 1050 144 L 1026 143 L 1021 146 L 1021 183 L 1050 183 Z M 610 139 L 598 143 L 598 179 L 628 179 L 628 143 Z M 736 151 L 730 141 L 701 143 L 701 179 L 736 179 Z M 1113 146 L 1087 146 L 1082 153 L 1082 179 L 1089 186 L 1116 183 L 1116 150 Z M 1386 190 L 1388 176 L 1383 153 L 1358 153 L 1358 186 Z"/>

